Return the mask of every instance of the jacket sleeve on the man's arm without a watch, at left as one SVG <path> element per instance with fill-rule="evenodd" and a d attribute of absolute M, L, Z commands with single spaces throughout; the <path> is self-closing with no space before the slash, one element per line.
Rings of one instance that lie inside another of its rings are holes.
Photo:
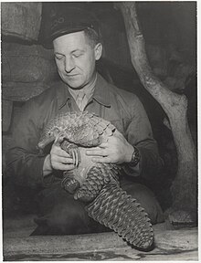
<path fill-rule="evenodd" d="M 42 116 L 34 100 L 26 102 L 13 129 L 11 148 L 5 154 L 5 176 L 12 176 L 15 184 L 37 188 L 47 186 L 52 174 L 44 180 L 43 163 L 46 156 L 37 151 Z"/>

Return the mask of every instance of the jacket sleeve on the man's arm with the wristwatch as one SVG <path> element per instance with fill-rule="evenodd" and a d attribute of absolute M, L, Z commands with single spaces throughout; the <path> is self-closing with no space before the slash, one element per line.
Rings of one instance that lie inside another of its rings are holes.
<path fill-rule="evenodd" d="M 139 150 L 141 160 L 135 167 L 125 165 L 124 170 L 132 176 L 141 175 L 143 178 L 152 179 L 162 170 L 164 161 L 158 153 L 157 142 L 153 139 L 151 124 L 143 104 L 137 97 L 134 97 L 130 112 L 131 122 L 127 127 L 126 136 L 128 142 Z"/>

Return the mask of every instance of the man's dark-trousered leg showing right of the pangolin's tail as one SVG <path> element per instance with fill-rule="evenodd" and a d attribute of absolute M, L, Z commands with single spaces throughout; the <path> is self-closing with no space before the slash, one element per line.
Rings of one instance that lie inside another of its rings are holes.
<path fill-rule="evenodd" d="M 153 195 L 153 192 L 145 185 L 129 182 L 129 184 L 122 184 L 122 189 L 125 190 L 128 195 L 132 195 L 132 197 L 140 203 L 151 219 L 152 224 L 164 221 L 161 206 Z"/>

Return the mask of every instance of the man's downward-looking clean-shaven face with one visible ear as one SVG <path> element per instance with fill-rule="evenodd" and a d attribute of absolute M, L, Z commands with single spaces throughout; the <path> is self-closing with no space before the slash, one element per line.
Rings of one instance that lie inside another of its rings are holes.
<path fill-rule="evenodd" d="M 101 56 L 101 44 L 95 47 L 84 31 L 58 37 L 53 42 L 58 74 L 72 89 L 81 89 L 95 78 L 95 62 Z"/>

